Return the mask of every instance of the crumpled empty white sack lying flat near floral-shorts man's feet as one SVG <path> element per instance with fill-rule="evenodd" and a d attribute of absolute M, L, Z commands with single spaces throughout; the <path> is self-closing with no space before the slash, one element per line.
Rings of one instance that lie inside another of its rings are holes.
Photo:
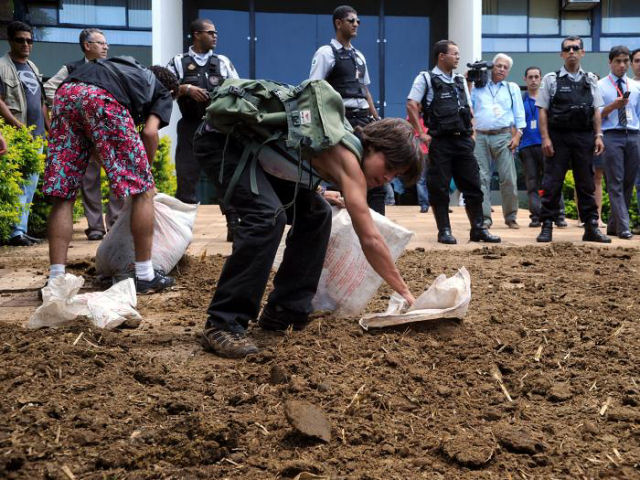
<path fill-rule="evenodd" d="M 135 309 L 136 286 L 132 278 L 118 282 L 104 292 L 78 295 L 83 284 L 84 278 L 70 273 L 50 280 L 42 289 L 42 305 L 25 327 L 56 327 L 84 316 L 96 327 L 112 329 L 126 320 L 142 319 Z"/>

